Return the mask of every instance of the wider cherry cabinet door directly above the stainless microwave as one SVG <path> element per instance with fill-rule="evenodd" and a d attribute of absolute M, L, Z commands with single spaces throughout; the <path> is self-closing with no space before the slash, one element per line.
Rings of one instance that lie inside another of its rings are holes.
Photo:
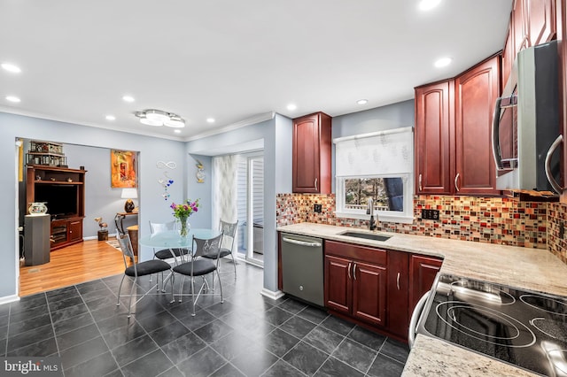
<path fill-rule="evenodd" d="M 524 1 L 529 45 L 551 41 L 555 36 L 555 0 Z"/>

